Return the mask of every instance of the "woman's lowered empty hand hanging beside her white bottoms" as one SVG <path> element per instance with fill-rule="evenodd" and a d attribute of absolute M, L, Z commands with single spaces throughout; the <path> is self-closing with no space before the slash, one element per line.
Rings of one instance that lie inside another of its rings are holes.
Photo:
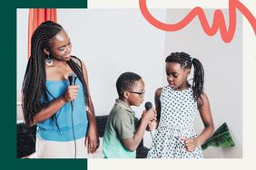
<path fill-rule="evenodd" d="M 95 126 L 89 126 L 87 136 L 85 137 L 85 146 L 87 146 L 88 153 L 94 153 L 100 146 L 97 129 Z"/>

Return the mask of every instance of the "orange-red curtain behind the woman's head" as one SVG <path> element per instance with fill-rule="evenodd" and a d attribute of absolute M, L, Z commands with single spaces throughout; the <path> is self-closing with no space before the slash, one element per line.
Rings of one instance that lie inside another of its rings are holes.
<path fill-rule="evenodd" d="M 44 21 L 54 21 L 57 22 L 57 10 L 56 9 L 29 9 L 28 14 L 28 45 L 27 45 L 27 56 L 30 57 L 31 49 L 31 36 L 34 33 L 34 30 L 39 24 L 42 24 Z"/>

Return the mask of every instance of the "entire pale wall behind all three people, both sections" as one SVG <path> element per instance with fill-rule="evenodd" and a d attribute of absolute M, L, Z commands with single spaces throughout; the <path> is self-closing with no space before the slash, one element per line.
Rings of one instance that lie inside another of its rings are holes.
<path fill-rule="evenodd" d="M 212 10 L 206 11 L 212 18 Z M 184 9 L 151 12 L 167 23 L 180 21 L 187 14 Z M 17 91 L 26 66 L 27 14 L 28 10 L 17 11 Z M 137 9 L 58 9 L 57 18 L 71 38 L 73 55 L 85 62 L 96 115 L 109 114 L 117 98 L 115 81 L 123 71 L 139 73 L 146 83 L 145 101 L 153 101 L 154 90 L 166 84 L 165 57 L 170 52 L 188 52 L 204 66 L 215 127 L 226 121 L 236 143 L 232 148 L 209 147 L 204 156 L 241 157 L 241 17 L 235 38 L 228 44 L 219 34 L 210 37 L 203 33 L 197 19 L 179 32 L 162 32 L 148 24 Z M 133 109 L 140 118 L 143 106 Z M 200 118 L 196 129 L 202 130 Z M 151 143 L 146 132 L 144 145 Z"/>

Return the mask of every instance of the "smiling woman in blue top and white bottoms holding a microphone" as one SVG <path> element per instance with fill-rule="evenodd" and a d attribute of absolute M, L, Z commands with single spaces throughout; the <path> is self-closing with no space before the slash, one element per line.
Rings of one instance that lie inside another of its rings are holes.
<path fill-rule="evenodd" d="M 87 71 L 71 51 L 60 24 L 47 21 L 35 29 L 22 94 L 25 123 L 37 125 L 38 158 L 87 158 L 99 146 Z M 67 80 L 71 73 L 74 85 Z"/>

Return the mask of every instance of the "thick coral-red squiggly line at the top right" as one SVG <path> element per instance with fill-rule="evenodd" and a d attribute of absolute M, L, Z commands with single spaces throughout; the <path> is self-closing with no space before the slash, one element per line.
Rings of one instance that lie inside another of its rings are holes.
<path fill-rule="evenodd" d="M 231 42 L 234 32 L 236 29 L 236 9 L 238 9 L 241 14 L 243 14 L 249 23 L 251 24 L 251 27 L 256 35 L 256 19 L 251 14 L 251 12 L 248 10 L 248 8 L 239 2 L 239 0 L 230 0 L 229 1 L 229 29 L 226 27 L 225 19 L 222 14 L 221 10 L 215 10 L 214 17 L 213 17 L 213 23 L 212 27 L 208 23 L 208 20 L 202 10 L 201 7 L 195 7 L 192 9 L 192 11 L 187 14 L 182 21 L 178 22 L 177 24 L 164 24 L 157 19 L 153 17 L 152 14 L 150 14 L 147 5 L 146 0 L 139 0 L 140 3 L 140 9 L 144 16 L 144 18 L 150 23 L 153 24 L 156 28 L 159 28 L 163 31 L 169 31 L 174 32 L 181 30 L 183 27 L 185 27 L 187 24 L 190 24 L 192 19 L 198 15 L 200 23 L 202 24 L 203 31 L 212 36 L 215 33 L 218 32 L 218 29 L 220 28 L 220 32 L 222 35 L 222 40 L 224 42 Z"/>

